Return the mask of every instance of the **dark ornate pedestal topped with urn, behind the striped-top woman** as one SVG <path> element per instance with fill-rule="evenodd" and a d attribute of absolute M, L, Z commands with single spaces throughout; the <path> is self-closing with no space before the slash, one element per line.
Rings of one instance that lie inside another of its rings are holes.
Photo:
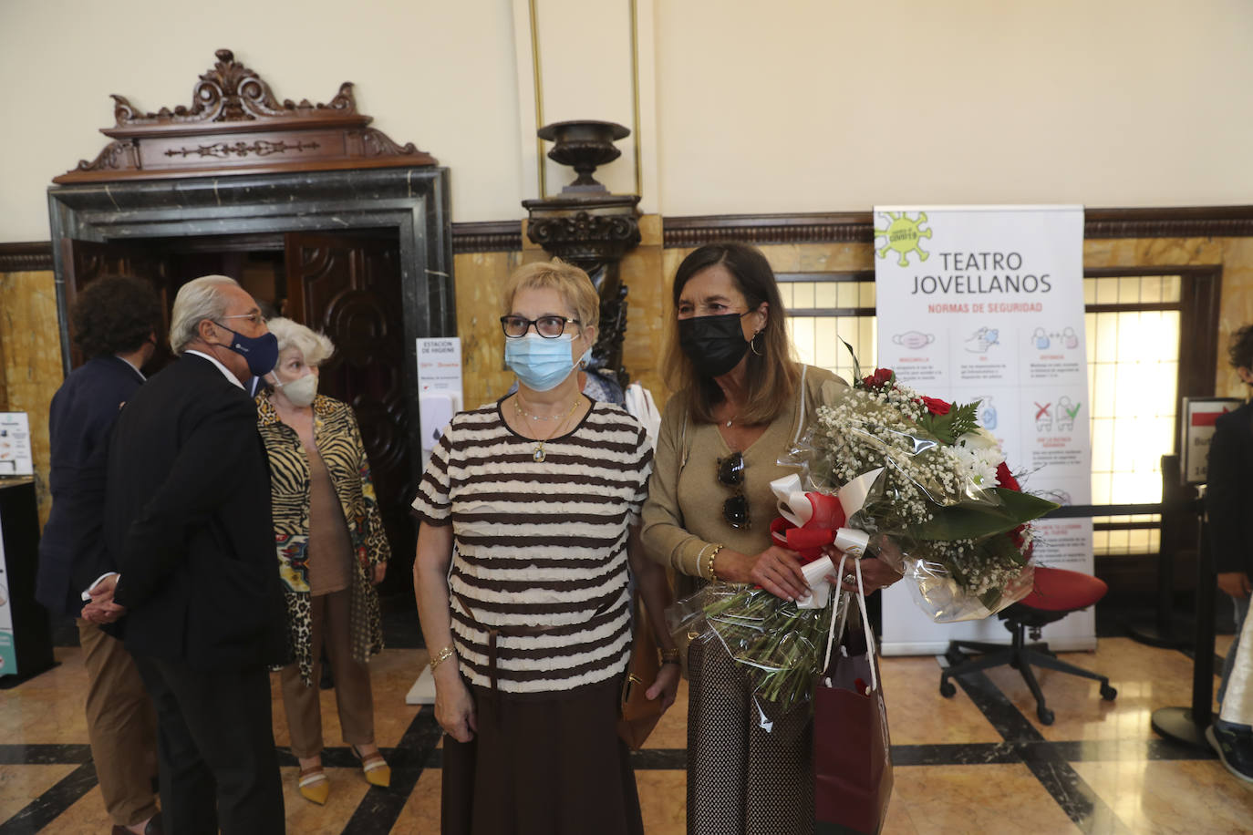
<path fill-rule="evenodd" d="M 570 165 L 579 177 L 561 193 L 523 200 L 530 215 L 526 235 L 549 255 L 584 269 L 600 294 L 600 332 L 591 349 L 590 371 L 626 387 L 623 337 L 626 333 L 626 287 L 623 257 L 639 245 L 638 194 L 610 194 L 591 174 L 621 154 L 614 141 L 630 130 L 613 121 L 558 121 L 540 128 L 540 139 L 554 143 L 549 159 Z"/>

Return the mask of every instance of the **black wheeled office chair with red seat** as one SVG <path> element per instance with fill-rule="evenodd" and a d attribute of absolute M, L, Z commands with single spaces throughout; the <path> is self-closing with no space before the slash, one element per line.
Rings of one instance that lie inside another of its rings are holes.
<path fill-rule="evenodd" d="M 1039 641 L 1040 630 L 1045 625 L 1060 621 L 1070 612 L 1088 608 L 1104 597 L 1108 590 L 1105 581 L 1091 575 L 1036 566 L 1031 593 L 997 615 L 1005 621 L 1005 628 L 1014 635 L 1014 642 L 1005 646 L 1004 643 L 981 641 L 949 641 L 949 651 L 945 652 L 945 656 L 949 658 L 950 666 L 940 676 L 940 695 L 947 699 L 957 692 L 954 684 L 949 681 L 952 676 L 1007 663 L 1022 674 L 1022 680 L 1031 690 L 1031 695 L 1035 696 L 1035 714 L 1045 725 L 1053 725 L 1053 711 L 1044 704 L 1044 694 L 1035 680 L 1035 674 L 1031 672 L 1031 665 L 1073 676 L 1095 679 L 1100 682 L 1101 699 L 1113 701 L 1118 696 L 1118 691 L 1109 686 L 1109 679 L 1059 661 L 1056 653 L 1049 650 L 1048 643 L 1026 642 L 1027 630 L 1031 631 L 1031 640 Z M 982 655 L 977 658 L 967 658 L 966 650 Z"/>

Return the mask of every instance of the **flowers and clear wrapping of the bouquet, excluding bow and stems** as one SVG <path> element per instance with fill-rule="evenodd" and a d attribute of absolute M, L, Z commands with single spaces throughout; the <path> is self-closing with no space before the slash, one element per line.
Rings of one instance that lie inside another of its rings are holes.
<path fill-rule="evenodd" d="M 994 615 L 1031 591 L 1030 521 L 1056 507 L 1021 492 L 979 403 L 925 397 L 878 369 L 818 407 L 792 451 L 807 487 L 834 492 L 882 468 L 850 527 L 880 535 L 938 623 Z"/>

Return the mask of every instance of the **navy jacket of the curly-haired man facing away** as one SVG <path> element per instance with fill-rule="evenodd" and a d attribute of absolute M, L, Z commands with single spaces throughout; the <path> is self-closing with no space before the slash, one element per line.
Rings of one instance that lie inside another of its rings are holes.
<path fill-rule="evenodd" d="M 104 464 L 113 422 L 143 382 L 127 361 L 96 357 L 70 372 L 53 396 L 53 511 L 39 540 L 35 598 L 56 615 L 76 616 L 83 590 L 117 570 L 104 547 Z"/>

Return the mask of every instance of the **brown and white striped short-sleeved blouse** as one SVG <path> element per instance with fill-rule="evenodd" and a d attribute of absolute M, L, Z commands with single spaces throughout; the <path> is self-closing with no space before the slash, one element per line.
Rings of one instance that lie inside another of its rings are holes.
<path fill-rule="evenodd" d="M 452 525 L 449 591 L 461 670 L 491 686 L 495 630 L 497 686 L 514 694 L 571 690 L 625 669 L 626 537 L 653 462 L 644 428 L 600 402 L 569 434 L 544 443 L 543 462 L 535 446 L 509 428 L 500 403 L 461 412 L 413 499 L 422 522 Z"/>

